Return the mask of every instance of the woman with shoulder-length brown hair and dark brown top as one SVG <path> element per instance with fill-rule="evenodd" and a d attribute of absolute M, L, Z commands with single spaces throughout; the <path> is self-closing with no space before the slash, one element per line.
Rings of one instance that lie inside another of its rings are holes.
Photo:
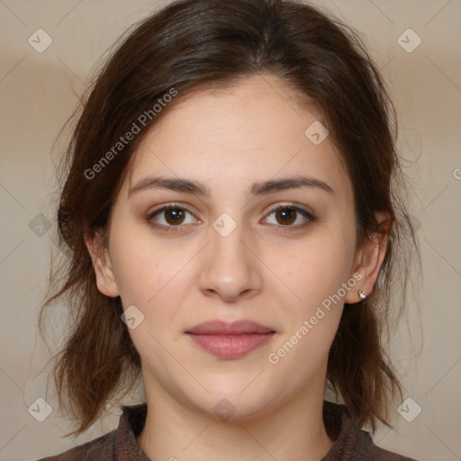
<path fill-rule="evenodd" d="M 381 345 L 414 242 L 394 140 L 363 45 L 310 5 L 183 0 L 140 23 L 70 142 L 44 307 L 76 313 L 55 368 L 72 434 L 139 373 L 146 402 L 45 459 L 410 459 L 361 429 L 402 402 Z"/>

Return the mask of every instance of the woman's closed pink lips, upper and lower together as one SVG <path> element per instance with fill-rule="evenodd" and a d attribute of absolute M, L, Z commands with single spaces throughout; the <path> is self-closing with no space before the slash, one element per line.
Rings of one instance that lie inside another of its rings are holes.
<path fill-rule="evenodd" d="M 185 331 L 194 342 L 221 358 L 238 358 L 266 345 L 274 330 L 254 321 L 205 321 Z"/>

